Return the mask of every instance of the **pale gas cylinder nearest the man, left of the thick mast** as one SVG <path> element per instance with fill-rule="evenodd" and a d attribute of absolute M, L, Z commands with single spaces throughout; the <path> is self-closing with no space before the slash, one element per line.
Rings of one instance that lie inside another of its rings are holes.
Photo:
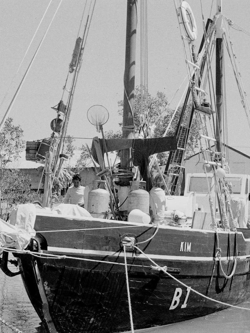
<path fill-rule="evenodd" d="M 88 212 L 92 217 L 105 218 L 109 208 L 109 192 L 105 180 L 93 180 L 88 194 Z"/>

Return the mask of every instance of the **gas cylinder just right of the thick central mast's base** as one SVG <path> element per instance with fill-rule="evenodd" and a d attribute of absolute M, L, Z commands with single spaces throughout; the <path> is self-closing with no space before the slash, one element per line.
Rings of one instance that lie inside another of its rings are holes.
<path fill-rule="evenodd" d="M 149 213 L 149 193 L 142 188 L 146 188 L 145 181 L 131 181 L 131 191 L 128 193 L 128 214 L 133 209 Z"/>

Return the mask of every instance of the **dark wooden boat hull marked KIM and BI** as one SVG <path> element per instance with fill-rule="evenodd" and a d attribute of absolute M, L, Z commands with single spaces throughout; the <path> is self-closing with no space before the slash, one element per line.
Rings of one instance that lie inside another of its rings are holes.
<path fill-rule="evenodd" d="M 66 229 L 63 222 L 67 224 L 67 219 L 61 218 L 61 229 Z M 72 229 L 79 228 L 79 223 L 81 228 L 90 225 L 93 228 L 93 221 L 71 222 Z M 122 225 L 104 220 L 94 222 L 97 228 Z M 45 230 L 46 223 L 49 221 L 38 218 L 37 231 Z M 125 227 L 123 232 L 131 234 L 131 230 Z M 155 232 L 155 228 L 143 225 L 135 230 L 137 241 L 146 240 Z M 72 243 L 69 241 L 72 234 L 69 238 L 65 233 L 63 237 L 62 232 L 54 233 L 61 238 L 60 242 L 59 238 L 53 239 L 53 251 L 49 250 L 53 236 L 46 234 L 48 251 L 43 252 L 66 255 L 66 258 L 18 254 L 25 288 L 47 332 L 106 333 L 131 329 L 124 253 L 120 247 L 123 232 L 120 229 L 101 231 L 101 234 L 100 230 L 73 231 Z M 235 250 L 241 254 L 237 256 L 236 270 L 230 279 L 223 276 L 219 261 L 213 259 L 218 247 L 214 232 L 164 228 L 139 247 L 158 265 L 167 266 L 167 271 L 188 287 L 217 301 L 237 304 L 250 298 L 250 242 L 245 238 L 242 233 L 219 233 L 221 254 L 226 257 L 222 260 L 226 274 L 233 269 Z M 70 248 L 72 252 L 79 249 L 80 239 L 82 253 L 67 253 Z M 184 252 L 185 247 L 183 253 L 180 251 L 183 241 L 193 244 L 190 251 Z M 162 271 L 152 270 L 152 262 L 140 253 L 127 251 L 127 264 L 135 329 L 175 323 L 227 307 L 195 294 Z"/>

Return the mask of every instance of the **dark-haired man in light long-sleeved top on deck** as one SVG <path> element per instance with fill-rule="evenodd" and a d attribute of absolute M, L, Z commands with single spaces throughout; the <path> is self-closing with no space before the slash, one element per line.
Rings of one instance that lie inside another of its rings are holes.
<path fill-rule="evenodd" d="M 80 174 L 75 174 L 73 176 L 73 185 L 67 190 L 63 203 L 71 203 L 84 207 L 84 186 L 81 186 L 81 176 Z"/>

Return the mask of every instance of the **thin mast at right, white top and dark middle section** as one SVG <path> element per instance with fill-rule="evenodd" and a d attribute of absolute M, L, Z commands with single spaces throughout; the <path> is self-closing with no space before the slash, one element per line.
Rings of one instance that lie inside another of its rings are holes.
<path fill-rule="evenodd" d="M 217 110 L 217 121 L 216 121 L 216 142 L 218 152 L 222 152 L 221 147 L 221 135 L 222 135 L 222 79 L 223 79 L 223 27 L 222 27 L 222 0 L 217 0 L 217 21 L 216 21 L 216 110 Z"/>

